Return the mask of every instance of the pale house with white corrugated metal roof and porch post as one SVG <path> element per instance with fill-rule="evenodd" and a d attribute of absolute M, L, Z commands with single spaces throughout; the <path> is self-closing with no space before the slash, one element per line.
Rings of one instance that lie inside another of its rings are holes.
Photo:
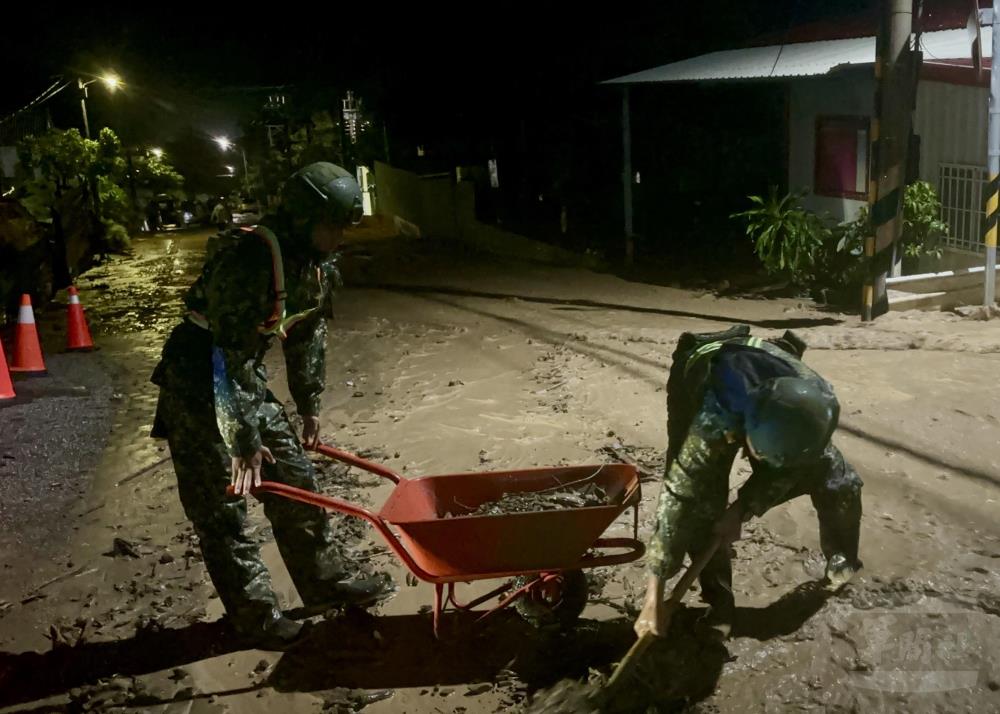
<path fill-rule="evenodd" d="M 911 168 L 938 191 L 942 217 L 951 228 L 950 263 L 957 266 L 981 262 L 983 251 L 992 11 L 974 12 L 973 7 L 959 0 L 925 0 L 922 15 L 914 18 L 923 62 L 913 113 L 911 157 L 917 166 Z M 636 85 L 782 83 L 789 190 L 805 191 L 811 210 L 852 220 L 868 198 L 876 12 L 793 28 L 754 46 L 691 57 L 604 84 L 624 90 L 627 127 L 628 91 Z M 626 130 L 626 166 L 628 144 Z"/>

